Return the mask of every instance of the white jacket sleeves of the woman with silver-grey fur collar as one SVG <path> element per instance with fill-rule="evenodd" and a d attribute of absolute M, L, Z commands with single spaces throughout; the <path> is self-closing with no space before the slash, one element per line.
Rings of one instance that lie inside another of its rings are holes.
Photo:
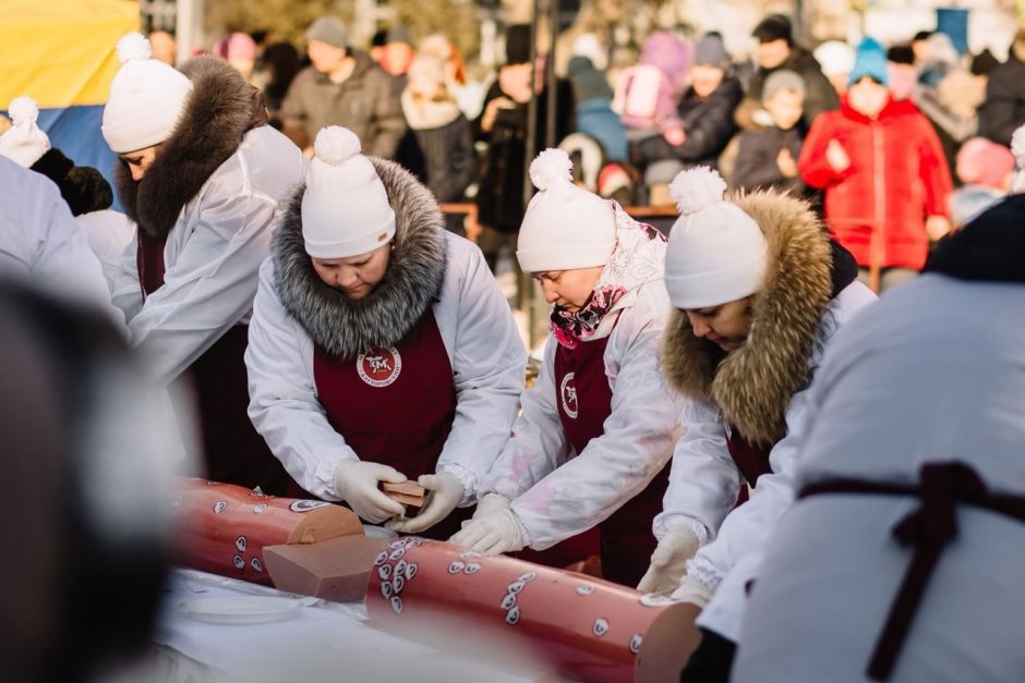
<path fill-rule="evenodd" d="M 454 474 L 466 488 L 462 503 L 469 504 L 509 436 L 527 354 L 480 249 L 447 232 L 444 248 L 447 265 L 433 310 L 453 367 L 456 417 L 436 472 Z M 313 340 L 278 292 L 274 260 L 267 259 L 245 352 L 250 417 L 301 487 L 340 500 L 335 469 L 359 453 L 327 422 L 313 378 Z M 403 410 L 415 407 L 395 406 L 396 429 L 402 428 Z"/>

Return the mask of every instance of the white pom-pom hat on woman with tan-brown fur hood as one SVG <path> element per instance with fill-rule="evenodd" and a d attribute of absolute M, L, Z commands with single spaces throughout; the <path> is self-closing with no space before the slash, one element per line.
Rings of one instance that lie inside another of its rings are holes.
<path fill-rule="evenodd" d="M 670 185 L 680 216 L 665 252 L 665 289 L 676 308 L 694 310 L 744 298 L 761 288 L 765 236 L 755 220 L 723 199 L 716 171 L 682 171 Z"/>

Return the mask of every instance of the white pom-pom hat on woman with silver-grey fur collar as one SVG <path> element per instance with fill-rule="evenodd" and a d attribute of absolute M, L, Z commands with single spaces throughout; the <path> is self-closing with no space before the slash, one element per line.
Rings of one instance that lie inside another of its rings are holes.
<path fill-rule="evenodd" d="M 395 236 L 395 211 L 360 138 L 329 125 L 316 134 L 316 153 L 302 196 L 302 236 L 314 258 L 369 254 Z"/>

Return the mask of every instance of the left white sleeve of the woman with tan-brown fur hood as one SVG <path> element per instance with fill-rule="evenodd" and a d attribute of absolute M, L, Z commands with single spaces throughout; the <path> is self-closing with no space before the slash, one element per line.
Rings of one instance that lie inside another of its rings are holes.
<path fill-rule="evenodd" d="M 673 452 L 670 486 L 653 532 L 662 539 L 671 526 L 686 524 L 702 542 L 714 538 L 740 490 L 740 473 L 726 448 L 719 414 L 701 401 L 687 403 L 680 416 L 684 436 Z"/>

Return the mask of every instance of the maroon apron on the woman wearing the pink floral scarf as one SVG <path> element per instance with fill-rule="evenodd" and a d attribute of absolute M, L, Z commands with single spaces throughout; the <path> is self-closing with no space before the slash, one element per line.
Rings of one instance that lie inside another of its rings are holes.
<path fill-rule="evenodd" d="M 605 419 L 612 414 L 612 389 L 604 359 L 607 343 L 605 337 L 581 342 L 576 349 L 559 344 L 555 351 L 555 403 L 563 429 L 577 453 L 604 434 Z M 640 493 L 599 523 L 602 575 L 608 581 L 634 587 L 644 575 L 658 545 L 651 524 L 662 512 L 668 483 L 666 463 Z"/>

